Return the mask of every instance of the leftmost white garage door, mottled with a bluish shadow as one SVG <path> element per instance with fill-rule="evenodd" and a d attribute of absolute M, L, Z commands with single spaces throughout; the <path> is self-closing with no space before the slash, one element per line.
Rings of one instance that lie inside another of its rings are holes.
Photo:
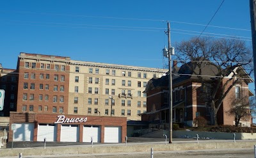
<path fill-rule="evenodd" d="M 34 123 L 15 123 L 16 129 L 14 132 L 13 141 L 33 141 Z"/>

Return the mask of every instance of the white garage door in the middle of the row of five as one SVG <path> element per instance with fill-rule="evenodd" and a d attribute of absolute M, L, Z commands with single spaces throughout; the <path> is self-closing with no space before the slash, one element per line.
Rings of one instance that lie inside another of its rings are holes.
<path fill-rule="evenodd" d="M 61 125 L 60 141 L 78 142 L 79 141 L 78 125 Z"/>

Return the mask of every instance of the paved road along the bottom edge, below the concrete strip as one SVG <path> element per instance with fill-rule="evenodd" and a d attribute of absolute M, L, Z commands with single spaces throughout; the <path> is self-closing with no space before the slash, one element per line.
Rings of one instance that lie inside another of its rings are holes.
<path fill-rule="evenodd" d="M 68 157 L 68 158 L 148 158 L 150 157 L 150 152 L 132 152 L 132 153 L 108 153 L 108 154 L 77 154 L 77 155 L 29 155 L 22 156 L 22 158 L 59 158 L 59 157 Z M 212 150 L 190 150 L 190 151 L 170 151 L 170 152 L 154 152 L 154 158 L 233 158 L 233 157 L 243 157 L 243 158 L 252 158 L 254 157 L 253 148 L 237 148 L 237 149 L 212 149 Z M 2 157 L 7 158 L 7 157 Z M 17 157 L 8 157 L 8 158 L 17 158 Z"/>

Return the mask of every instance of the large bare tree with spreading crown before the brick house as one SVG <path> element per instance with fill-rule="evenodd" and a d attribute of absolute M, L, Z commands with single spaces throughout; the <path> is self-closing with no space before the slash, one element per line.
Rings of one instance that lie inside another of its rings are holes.
<path fill-rule="evenodd" d="M 179 75 L 196 76 L 194 79 L 202 88 L 212 85 L 205 104 L 211 107 L 211 124 L 216 125 L 217 113 L 228 92 L 253 70 L 252 49 L 241 40 L 191 38 L 175 43 L 175 50 L 173 59 L 190 70 Z"/>

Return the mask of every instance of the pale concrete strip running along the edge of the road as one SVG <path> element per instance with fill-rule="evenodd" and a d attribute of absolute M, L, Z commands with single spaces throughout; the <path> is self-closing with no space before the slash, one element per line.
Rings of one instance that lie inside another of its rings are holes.
<path fill-rule="evenodd" d="M 36 148 L 4 148 L 0 150 L 0 157 L 22 155 L 54 155 L 54 154 L 97 154 L 97 153 L 117 153 L 117 152 L 150 152 L 154 151 L 180 151 L 180 150 L 203 150 L 218 148 L 253 148 L 256 145 L 255 140 L 196 140 L 192 141 L 173 141 L 172 144 L 160 142 L 143 143 L 116 143 L 116 144 L 97 144 L 93 145 L 72 145 L 72 146 L 51 146 Z"/>

